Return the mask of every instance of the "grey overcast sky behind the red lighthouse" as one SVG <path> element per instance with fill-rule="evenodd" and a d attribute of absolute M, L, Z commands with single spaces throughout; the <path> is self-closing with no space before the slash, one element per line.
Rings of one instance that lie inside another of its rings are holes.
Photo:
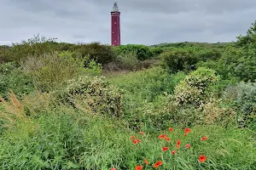
<path fill-rule="evenodd" d="M 114 2 L 122 44 L 236 41 L 256 20 L 256 0 L 0 0 L 0 44 L 38 33 L 110 43 Z"/>

